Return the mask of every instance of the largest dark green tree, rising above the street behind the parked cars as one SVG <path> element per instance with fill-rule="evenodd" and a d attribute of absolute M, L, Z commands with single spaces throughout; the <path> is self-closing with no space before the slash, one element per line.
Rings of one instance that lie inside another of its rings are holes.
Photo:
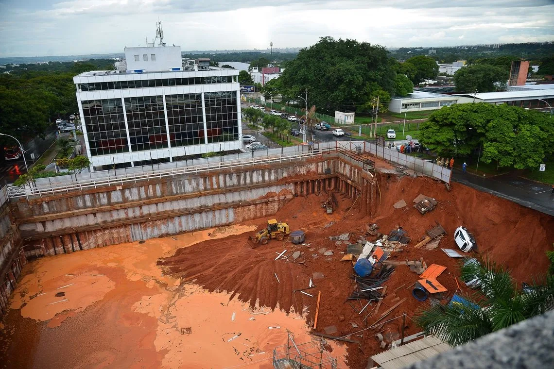
<path fill-rule="evenodd" d="M 383 46 L 322 37 L 302 49 L 279 79 L 286 95 L 296 99 L 307 90 L 309 105 L 320 110 L 360 111 L 377 92 L 394 93 L 394 63 Z"/>

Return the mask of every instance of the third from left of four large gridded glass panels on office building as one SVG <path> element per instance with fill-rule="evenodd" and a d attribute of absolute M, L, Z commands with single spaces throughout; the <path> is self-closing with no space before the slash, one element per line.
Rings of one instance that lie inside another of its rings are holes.
<path fill-rule="evenodd" d="M 166 95 L 171 147 L 204 143 L 202 93 Z"/>

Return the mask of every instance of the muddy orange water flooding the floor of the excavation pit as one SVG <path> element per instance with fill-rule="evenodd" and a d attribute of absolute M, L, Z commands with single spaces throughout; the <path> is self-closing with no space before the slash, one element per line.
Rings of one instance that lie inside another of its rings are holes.
<path fill-rule="evenodd" d="M 253 310 L 229 300 L 228 292 L 181 283 L 156 266 L 177 248 L 253 230 L 221 227 L 27 264 L 0 326 L 2 365 L 271 368 L 273 349 L 286 344 L 287 331 L 297 343 L 314 339 L 305 316 Z M 331 349 L 338 367 L 347 367 L 345 347 L 331 342 Z"/>

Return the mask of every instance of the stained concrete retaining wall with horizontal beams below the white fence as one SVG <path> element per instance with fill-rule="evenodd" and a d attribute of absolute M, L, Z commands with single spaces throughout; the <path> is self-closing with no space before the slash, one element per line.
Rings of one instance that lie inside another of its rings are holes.
<path fill-rule="evenodd" d="M 362 195 L 371 180 L 362 168 L 326 155 L 255 170 L 19 199 L 14 206 L 28 250 L 53 255 L 265 217 L 295 195 L 327 189 Z M 366 201 L 360 203 L 369 211 Z"/>

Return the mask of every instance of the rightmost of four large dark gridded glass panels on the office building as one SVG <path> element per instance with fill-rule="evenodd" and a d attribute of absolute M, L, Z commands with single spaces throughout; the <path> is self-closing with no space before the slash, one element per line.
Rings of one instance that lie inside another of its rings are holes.
<path fill-rule="evenodd" d="M 206 92 L 208 143 L 238 140 L 237 91 Z"/>

